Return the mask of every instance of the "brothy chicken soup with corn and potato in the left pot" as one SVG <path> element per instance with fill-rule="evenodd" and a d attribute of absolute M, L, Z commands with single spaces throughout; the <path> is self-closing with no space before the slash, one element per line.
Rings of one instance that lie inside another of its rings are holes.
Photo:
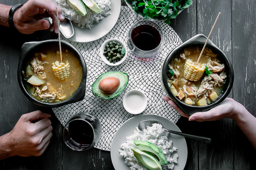
<path fill-rule="evenodd" d="M 27 90 L 38 101 L 62 102 L 72 96 L 80 85 L 82 65 L 78 57 L 65 46 L 62 47 L 62 56 L 66 61 L 56 61 L 59 56 L 58 44 L 44 46 L 31 56 L 23 71 Z"/>

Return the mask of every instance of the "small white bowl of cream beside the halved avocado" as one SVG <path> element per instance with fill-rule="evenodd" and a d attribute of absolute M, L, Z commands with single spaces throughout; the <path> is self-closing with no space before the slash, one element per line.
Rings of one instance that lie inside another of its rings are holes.
<path fill-rule="evenodd" d="M 124 109 L 130 114 L 142 113 L 148 105 L 148 100 L 144 92 L 140 90 L 130 90 L 123 97 Z"/>

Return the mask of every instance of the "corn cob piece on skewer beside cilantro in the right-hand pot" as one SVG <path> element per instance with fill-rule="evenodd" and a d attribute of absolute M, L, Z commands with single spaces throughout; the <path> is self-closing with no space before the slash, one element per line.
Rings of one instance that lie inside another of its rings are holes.
<path fill-rule="evenodd" d="M 190 81 L 197 81 L 201 79 L 206 69 L 204 64 L 195 65 L 196 62 L 192 62 L 187 59 L 184 65 L 184 77 Z"/>

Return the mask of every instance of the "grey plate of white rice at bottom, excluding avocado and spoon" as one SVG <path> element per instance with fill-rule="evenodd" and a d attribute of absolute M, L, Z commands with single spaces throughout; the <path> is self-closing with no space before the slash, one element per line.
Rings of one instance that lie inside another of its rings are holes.
<path fill-rule="evenodd" d="M 168 129 L 181 132 L 172 121 L 155 114 L 142 114 L 124 122 L 113 137 L 111 160 L 116 170 L 146 170 L 138 163 L 131 148 L 136 147 L 134 140 L 143 140 L 160 147 L 168 162 L 162 170 L 183 170 L 187 162 L 187 143 L 183 136 L 164 131 L 160 124 L 153 124 L 143 132 L 138 129 L 140 121 L 158 120 Z"/>

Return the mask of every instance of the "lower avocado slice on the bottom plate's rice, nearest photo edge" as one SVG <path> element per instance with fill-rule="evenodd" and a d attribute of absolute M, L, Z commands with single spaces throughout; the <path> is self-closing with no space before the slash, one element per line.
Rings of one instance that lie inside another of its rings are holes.
<path fill-rule="evenodd" d="M 133 151 L 134 157 L 139 161 L 139 163 L 141 163 L 143 166 L 145 166 L 149 170 L 162 170 L 160 163 L 154 156 L 146 152 L 140 151 L 137 148 L 132 148 L 132 151 Z"/>

